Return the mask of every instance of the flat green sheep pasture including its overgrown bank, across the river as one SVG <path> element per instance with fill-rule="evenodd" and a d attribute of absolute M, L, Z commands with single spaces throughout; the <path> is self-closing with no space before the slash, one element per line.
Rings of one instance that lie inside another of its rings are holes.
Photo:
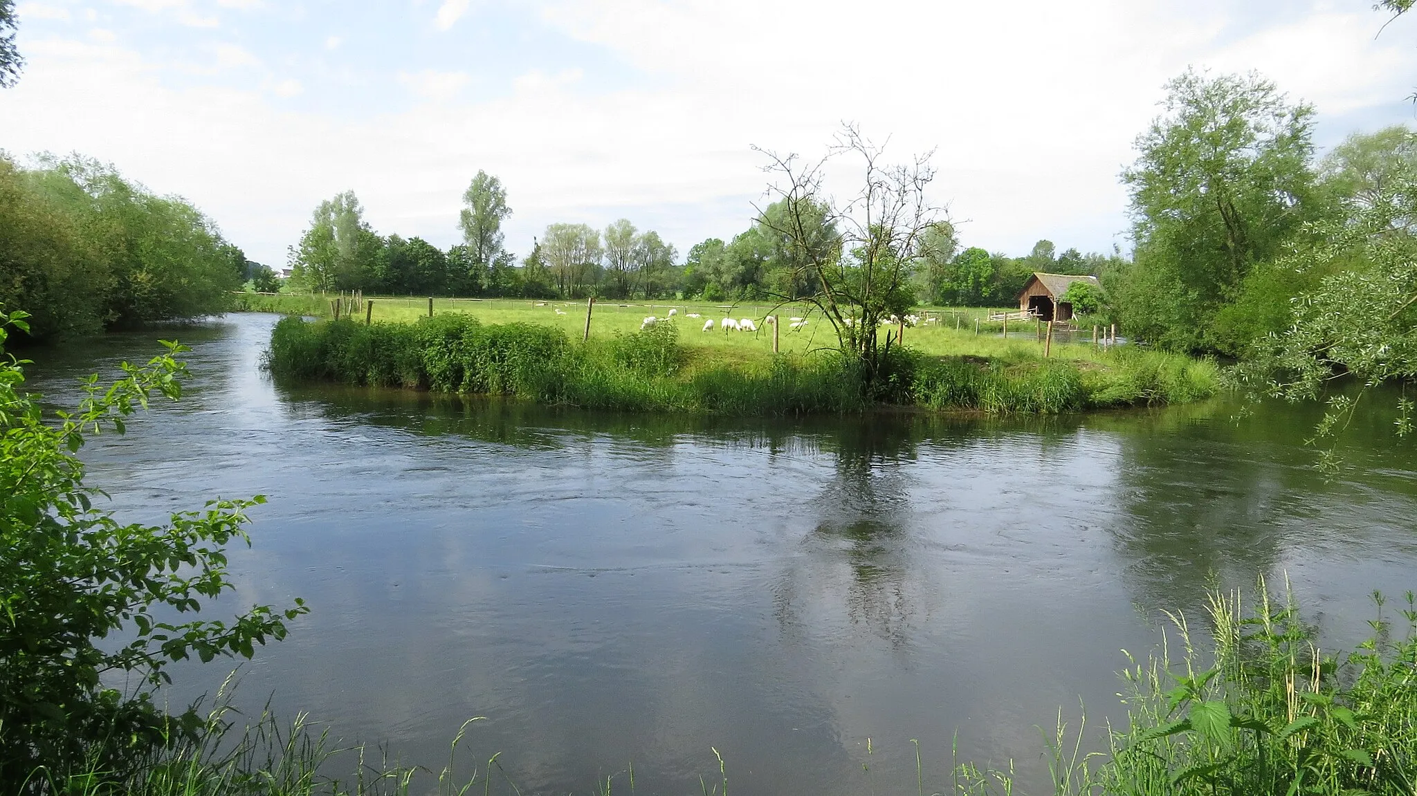
<path fill-rule="evenodd" d="M 794 305 L 597 302 L 582 341 L 585 302 L 434 299 L 428 317 L 427 297 L 373 297 L 364 312 L 332 323 L 330 299 L 262 299 L 286 306 L 252 309 L 326 319 L 276 326 L 268 364 L 281 377 L 604 409 L 798 415 L 896 405 L 1051 414 L 1195 401 L 1220 384 L 1209 360 L 1101 348 L 1091 330 L 1077 343 L 1057 336 L 1044 357 L 1036 324 L 1017 323 L 1005 339 L 983 307 L 921 310 L 905 346 L 888 351 L 888 373 L 867 384 L 837 351 L 830 324 Z M 310 312 L 312 302 L 323 312 Z M 640 329 L 645 317 L 667 319 L 670 309 L 672 320 Z M 778 354 L 764 323 L 774 312 L 784 319 Z M 758 330 L 723 331 L 723 317 L 752 319 Z M 792 317 L 806 324 L 794 330 Z M 710 319 L 714 330 L 703 331 Z"/>

